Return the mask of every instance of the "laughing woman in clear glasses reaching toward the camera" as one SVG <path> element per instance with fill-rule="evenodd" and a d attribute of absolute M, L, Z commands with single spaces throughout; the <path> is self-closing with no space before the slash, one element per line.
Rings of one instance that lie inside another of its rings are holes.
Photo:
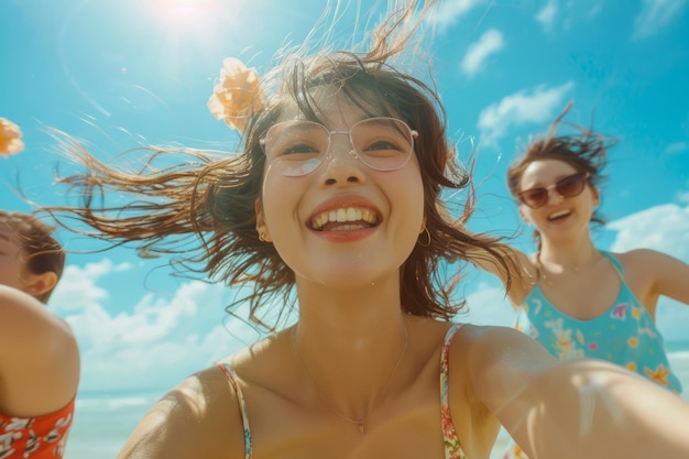
<path fill-rule="evenodd" d="M 522 272 L 450 217 L 444 192 L 468 188 L 468 218 L 472 189 L 442 102 L 392 65 L 433 4 L 391 11 L 364 52 L 307 43 L 259 89 L 232 86 L 236 155 L 128 173 L 65 140 L 88 173 L 62 183 L 85 200 L 48 211 L 245 285 L 250 318 L 272 331 L 163 396 L 120 458 L 480 459 L 501 424 L 534 458 L 689 453 L 676 394 L 605 362 L 558 361 L 508 328 L 451 323 L 462 303 L 446 263 L 493 264 L 507 285 Z M 101 206 L 109 193 L 128 201 Z M 297 320 L 265 324 L 266 307 Z"/>

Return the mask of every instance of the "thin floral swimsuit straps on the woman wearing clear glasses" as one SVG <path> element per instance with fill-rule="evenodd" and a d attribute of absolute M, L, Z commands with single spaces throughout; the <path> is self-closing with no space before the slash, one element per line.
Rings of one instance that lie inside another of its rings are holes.
<path fill-rule="evenodd" d="M 440 352 L 440 418 L 442 422 L 442 437 L 445 440 L 445 459 L 467 459 L 464 451 L 462 451 L 461 446 L 459 445 L 459 438 L 457 437 L 457 431 L 455 430 L 455 425 L 452 424 L 450 406 L 448 403 L 449 349 L 452 337 L 460 327 L 460 324 L 456 324 L 448 330 L 442 343 L 442 351 Z M 226 374 L 237 393 L 244 427 L 244 458 L 252 459 L 253 440 L 251 437 L 251 429 L 249 428 L 249 416 L 247 413 L 247 402 L 244 401 L 244 395 L 242 394 L 240 385 L 237 383 L 237 376 L 234 375 L 232 368 L 226 362 L 218 362 L 217 364 Z"/>

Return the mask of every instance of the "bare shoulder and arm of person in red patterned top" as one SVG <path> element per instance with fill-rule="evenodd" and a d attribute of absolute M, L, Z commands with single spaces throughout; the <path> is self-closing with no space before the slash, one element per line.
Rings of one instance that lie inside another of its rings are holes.
<path fill-rule="evenodd" d="M 79 350 L 69 326 L 45 305 L 0 285 L 0 413 L 37 416 L 76 395 Z"/>

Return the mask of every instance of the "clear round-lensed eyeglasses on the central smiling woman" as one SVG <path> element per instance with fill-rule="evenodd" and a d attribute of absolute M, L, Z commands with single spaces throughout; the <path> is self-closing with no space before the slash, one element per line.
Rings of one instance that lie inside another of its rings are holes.
<path fill-rule="evenodd" d="M 404 166 L 414 151 L 418 132 L 396 118 L 369 118 L 349 131 L 331 131 L 305 120 L 283 121 L 272 125 L 261 145 L 265 157 L 282 175 L 300 177 L 316 171 L 330 152 L 332 135 L 348 135 L 354 155 L 375 171 L 395 171 Z"/>

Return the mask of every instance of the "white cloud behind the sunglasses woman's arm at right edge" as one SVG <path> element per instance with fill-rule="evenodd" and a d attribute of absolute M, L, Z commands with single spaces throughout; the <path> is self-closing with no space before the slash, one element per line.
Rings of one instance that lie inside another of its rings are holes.
<path fill-rule="evenodd" d="M 608 225 L 617 231 L 613 252 L 653 249 L 689 263 L 689 206 L 666 204 L 633 214 Z M 660 297 L 656 314 L 658 329 L 666 340 L 686 340 L 689 306 Z"/>

